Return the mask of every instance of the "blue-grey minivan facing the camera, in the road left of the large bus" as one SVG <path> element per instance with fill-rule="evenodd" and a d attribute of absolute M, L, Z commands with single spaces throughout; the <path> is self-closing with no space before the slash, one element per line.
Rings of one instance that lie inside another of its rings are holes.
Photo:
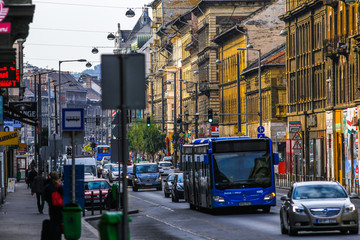
<path fill-rule="evenodd" d="M 136 163 L 131 175 L 133 191 L 139 188 L 156 188 L 162 190 L 161 175 L 156 163 Z"/>

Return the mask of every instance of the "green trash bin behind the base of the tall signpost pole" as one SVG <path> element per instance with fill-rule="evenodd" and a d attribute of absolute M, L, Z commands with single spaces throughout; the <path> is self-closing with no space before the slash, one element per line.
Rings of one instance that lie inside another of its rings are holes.
<path fill-rule="evenodd" d="M 101 216 L 99 222 L 99 232 L 101 240 L 119 240 L 120 235 L 118 231 L 121 231 L 122 212 L 106 212 Z M 131 218 L 128 217 L 128 221 L 131 222 Z M 130 240 L 130 231 L 129 240 Z"/>

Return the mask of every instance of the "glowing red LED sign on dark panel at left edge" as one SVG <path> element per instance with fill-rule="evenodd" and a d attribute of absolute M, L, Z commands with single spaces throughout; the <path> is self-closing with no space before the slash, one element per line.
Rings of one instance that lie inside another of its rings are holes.
<path fill-rule="evenodd" d="M 20 87 L 20 71 L 15 62 L 0 63 L 0 87 Z"/>

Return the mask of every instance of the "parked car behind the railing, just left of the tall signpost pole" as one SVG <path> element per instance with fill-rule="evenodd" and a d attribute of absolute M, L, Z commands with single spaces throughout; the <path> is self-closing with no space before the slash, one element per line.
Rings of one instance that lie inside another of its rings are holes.
<path fill-rule="evenodd" d="M 85 178 L 85 206 L 91 205 L 91 192 L 94 194 L 93 204 L 100 204 L 100 190 L 102 195 L 102 203 L 105 204 L 105 199 L 110 189 L 108 181 L 102 178 Z"/>

